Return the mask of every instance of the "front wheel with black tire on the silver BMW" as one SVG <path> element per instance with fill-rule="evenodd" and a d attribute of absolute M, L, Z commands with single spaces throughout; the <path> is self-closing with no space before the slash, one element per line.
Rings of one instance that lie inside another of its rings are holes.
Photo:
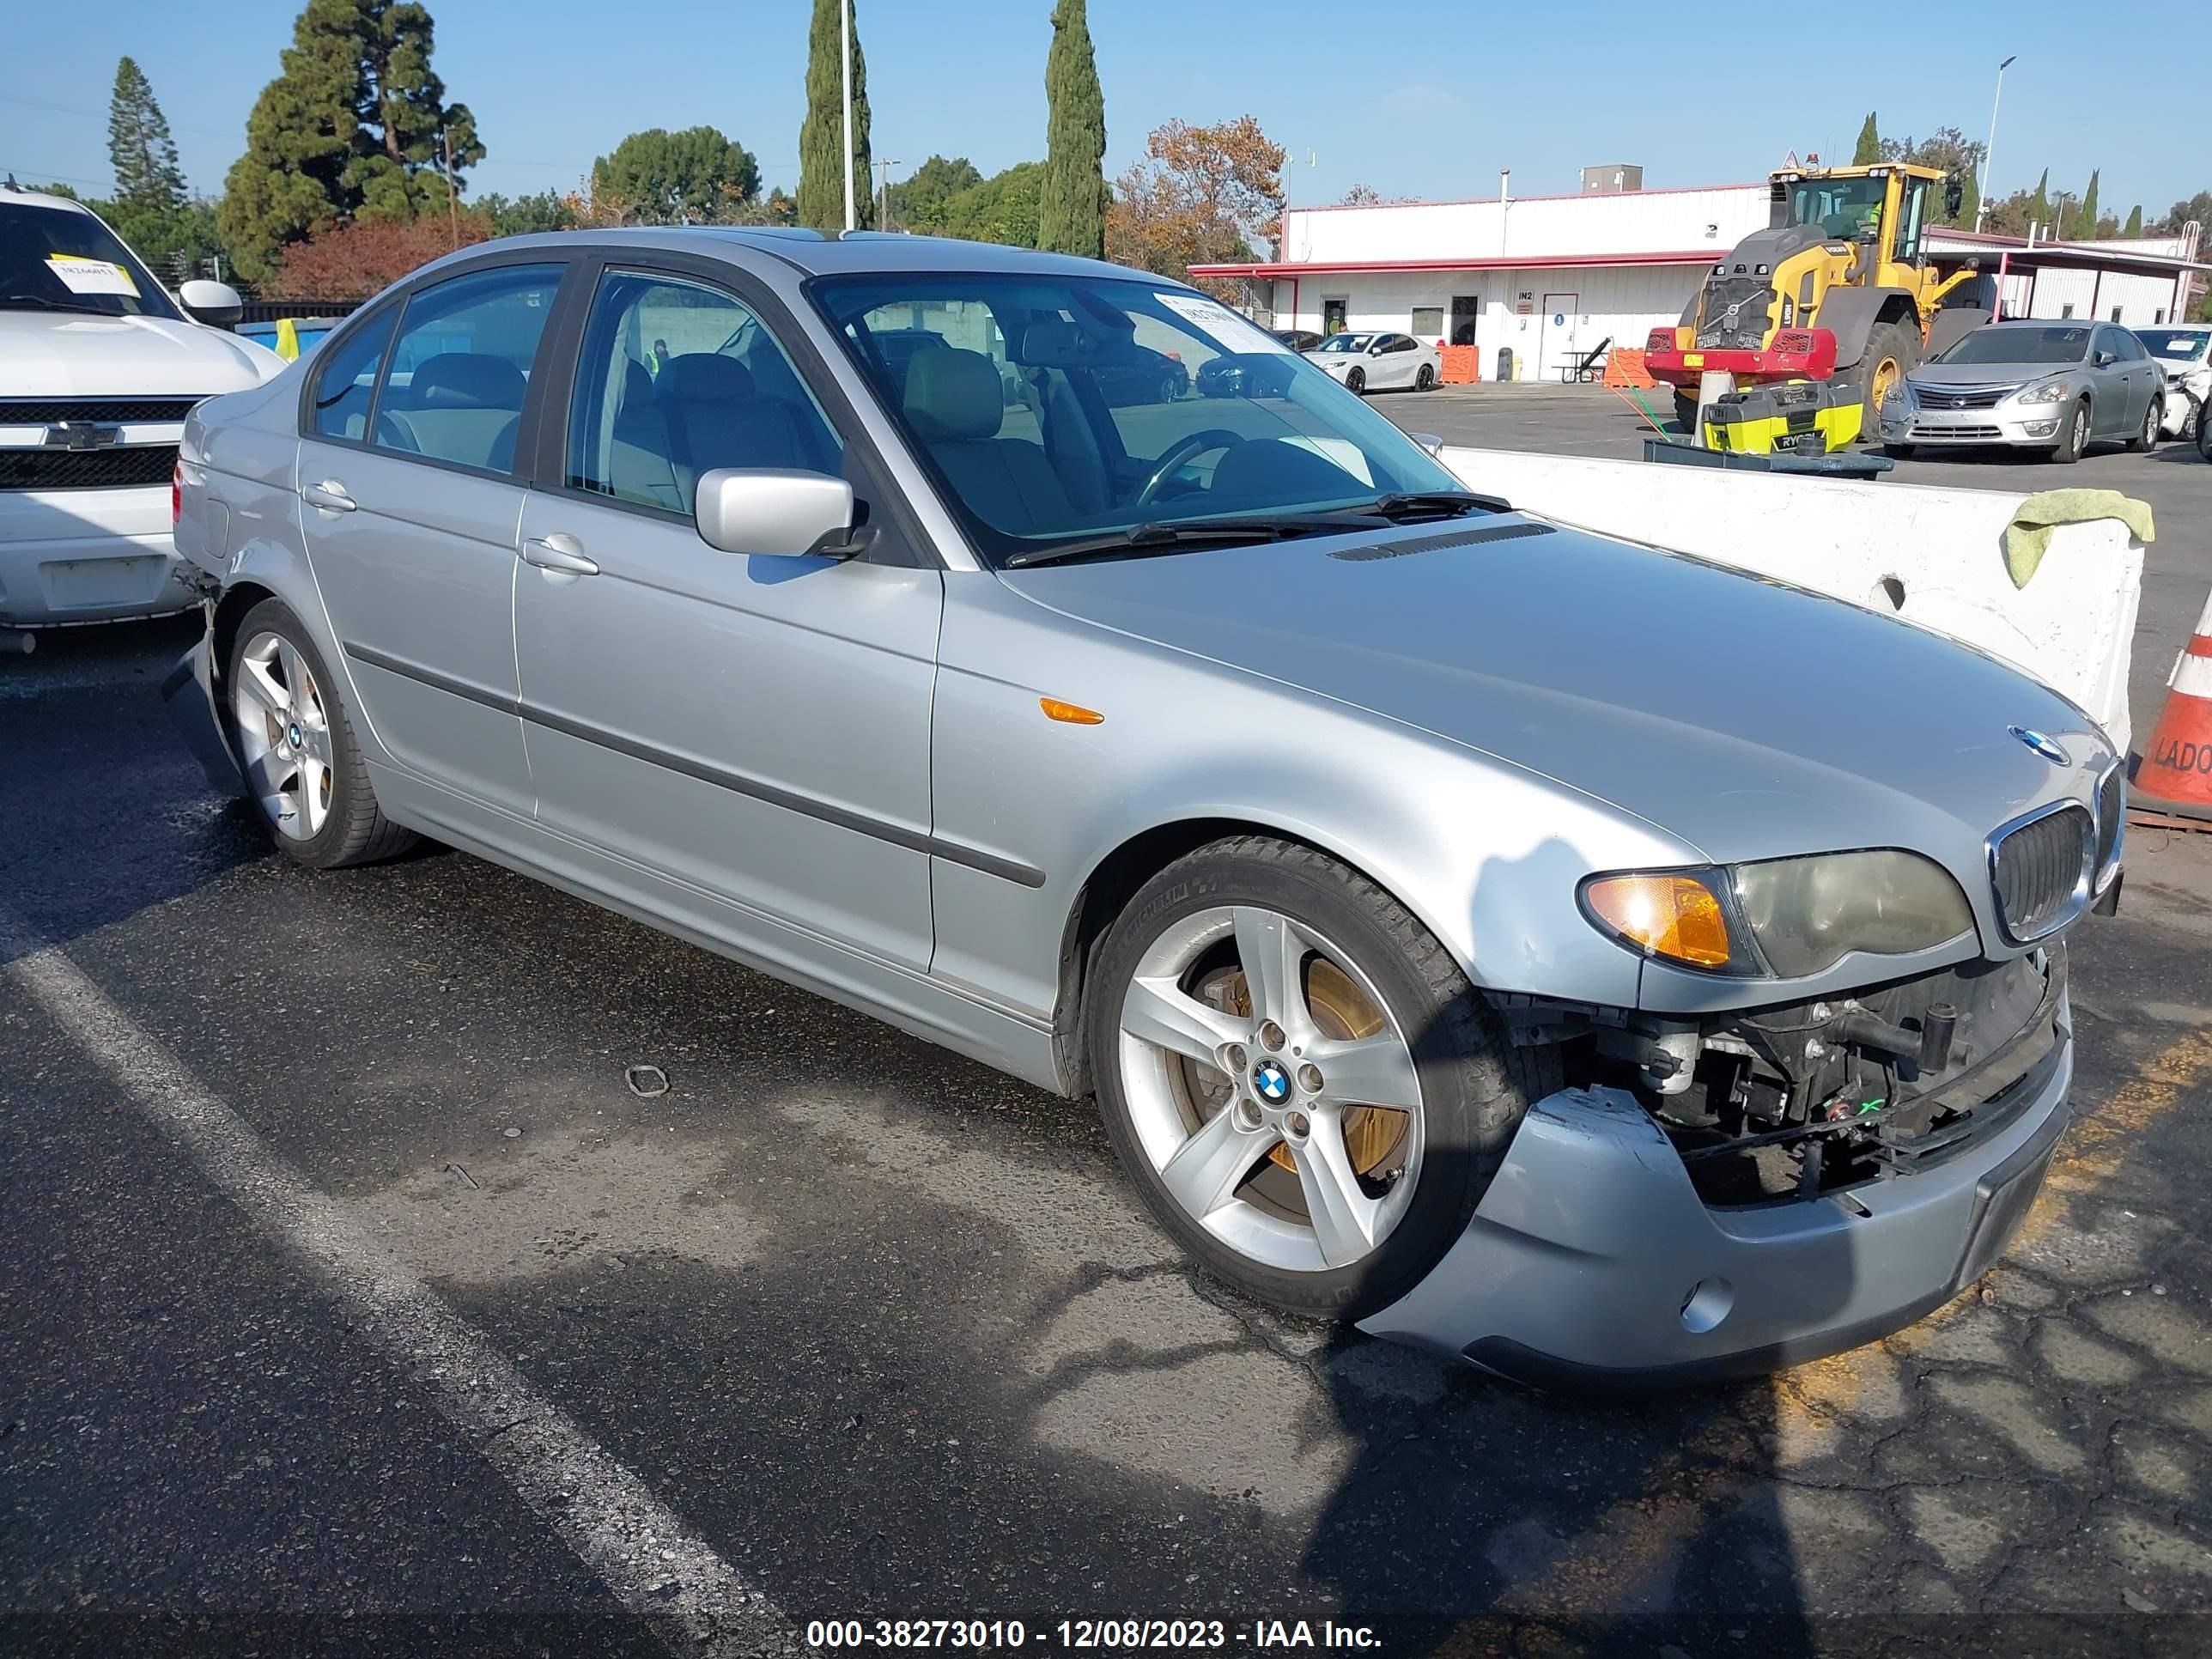
<path fill-rule="evenodd" d="M 1358 1318 L 1467 1230 L 1557 1055 L 1511 1048 L 1449 951 L 1334 858 L 1217 841 L 1148 880 L 1084 1000 L 1106 1133 L 1214 1276 Z"/>

